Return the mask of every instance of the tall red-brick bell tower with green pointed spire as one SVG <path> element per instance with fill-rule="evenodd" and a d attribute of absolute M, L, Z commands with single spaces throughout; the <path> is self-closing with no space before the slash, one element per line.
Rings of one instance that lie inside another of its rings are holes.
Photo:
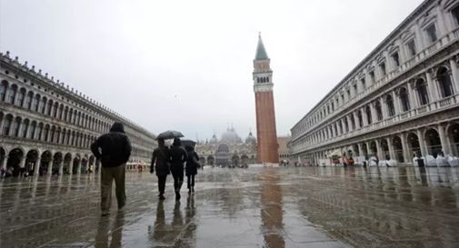
<path fill-rule="evenodd" d="M 273 71 L 269 63 L 270 59 L 264 49 L 262 36 L 258 35 L 253 73 L 258 163 L 279 163 L 275 130 Z"/>

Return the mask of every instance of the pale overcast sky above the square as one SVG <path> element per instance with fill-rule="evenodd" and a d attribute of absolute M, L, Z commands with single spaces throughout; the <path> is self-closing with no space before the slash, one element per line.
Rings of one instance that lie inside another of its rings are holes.
<path fill-rule="evenodd" d="M 0 0 L 0 50 L 157 134 L 255 132 L 262 32 L 288 134 L 422 0 Z"/>

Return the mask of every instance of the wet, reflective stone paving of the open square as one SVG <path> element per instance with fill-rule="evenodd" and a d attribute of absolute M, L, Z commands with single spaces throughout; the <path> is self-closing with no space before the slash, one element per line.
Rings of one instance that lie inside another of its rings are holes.
<path fill-rule="evenodd" d="M 99 210 L 95 174 L 0 182 L 0 247 L 459 247 L 459 168 L 205 168 L 175 202 L 126 174 Z M 185 186 L 185 185 L 184 185 Z"/>

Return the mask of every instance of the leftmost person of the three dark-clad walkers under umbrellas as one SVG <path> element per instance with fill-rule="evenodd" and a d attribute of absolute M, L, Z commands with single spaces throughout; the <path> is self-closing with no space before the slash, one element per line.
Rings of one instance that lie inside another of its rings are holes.
<path fill-rule="evenodd" d="M 171 152 L 165 146 L 165 140 L 158 139 L 158 147 L 153 151 L 150 173 L 153 174 L 156 171 L 156 176 L 158 177 L 158 197 L 160 200 L 165 200 L 165 180 L 170 173 L 170 162 Z"/>

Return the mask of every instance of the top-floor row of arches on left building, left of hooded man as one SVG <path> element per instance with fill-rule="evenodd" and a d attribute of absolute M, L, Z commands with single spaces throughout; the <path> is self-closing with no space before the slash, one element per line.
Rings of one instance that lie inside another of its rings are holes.
<path fill-rule="evenodd" d="M 45 114 L 95 132 L 107 132 L 110 127 L 110 124 L 102 119 L 48 99 L 45 95 L 35 94 L 32 90 L 27 91 L 25 87 L 19 88 L 17 84 L 9 84 L 6 80 L 0 84 L 0 102 L 13 104 L 38 114 Z"/>

